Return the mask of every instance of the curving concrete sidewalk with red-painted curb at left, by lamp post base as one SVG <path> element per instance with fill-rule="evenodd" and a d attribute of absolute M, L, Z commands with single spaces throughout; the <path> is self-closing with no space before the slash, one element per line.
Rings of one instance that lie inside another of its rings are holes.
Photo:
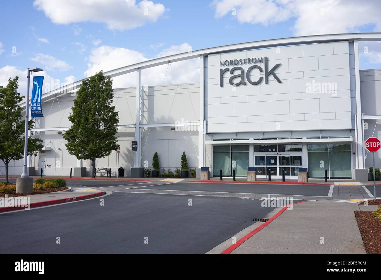
<path fill-rule="evenodd" d="M 49 192 L 46 194 L 25 195 L 21 197 L 8 197 L 13 200 L 12 206 L 0 207 L 0 213 L 24 210 L 26 208 L 36 208 L 42 206 L 50 206 L 61 203 L 75 202 L 80 200 L 91 199 L 106 194 L 104 190 L 93 188 L 86 189 L 69 189 L 59 192 Z M 21 198 L 21 199 L 20 199 Z M 2 199 L 2 198 L 0 198 Z M 27 200 L 26 200 L 27 199 Z M 25 203 L 27 203 L 25 205 Z M 8 204 L 9 205 L 9 204 Z"/>

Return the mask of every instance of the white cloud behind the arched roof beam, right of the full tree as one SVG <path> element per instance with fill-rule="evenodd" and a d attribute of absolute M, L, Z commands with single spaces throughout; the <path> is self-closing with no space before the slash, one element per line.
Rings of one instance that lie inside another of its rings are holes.
<path fill-rule="evenodd" d="M 192 50 L 192 48 L 187 43 L 177 46 L 173 45 L 170 48 L 161 51 L 155 57 L 184 53 L 189 50 Z M 90 77 L 100 70 L 106 72 L 108 70 L 142 62 L 147 59 L 149 58 L 146 58 L 144 54 L 139 53 L 138 51 L 112 46 L 100 46 L 91 51 L 91 55 L 88 58 L 90 63 L 88 63 L 88 69 L 84 74 L 86 77 Z M 199 63 L 199 59 L 174 62 L 171 67 L 168 67 L 164 84 L 199 82 Z M 141 71 L 142 85 L 162 85 L 166 69 L 167 65 L 143 69 Z M 133 87 L 135 85 L 136 75 L 134 73 L 113 78 L 114 88 Z"/>

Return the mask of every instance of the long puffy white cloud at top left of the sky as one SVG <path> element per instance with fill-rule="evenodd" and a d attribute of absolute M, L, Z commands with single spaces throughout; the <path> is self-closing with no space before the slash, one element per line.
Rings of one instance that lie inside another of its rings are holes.
<path fill-rule="evenodd" d="M 34 6 L 55 24 L 103 22 L 109 29 L 125 30 L 156 22 L 164 5 L 143 0 L 35 0 Z"/>

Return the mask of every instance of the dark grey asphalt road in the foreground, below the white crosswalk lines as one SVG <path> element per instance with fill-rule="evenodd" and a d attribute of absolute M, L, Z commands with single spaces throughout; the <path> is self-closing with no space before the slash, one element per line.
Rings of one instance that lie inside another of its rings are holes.
<path fill-rule="evenodd" d="M 1 214 L 0 251 L 206 253 L 274 209 L 258 199 L 128 193 L 104 199 L 104 206 L 97 198 Z"/>

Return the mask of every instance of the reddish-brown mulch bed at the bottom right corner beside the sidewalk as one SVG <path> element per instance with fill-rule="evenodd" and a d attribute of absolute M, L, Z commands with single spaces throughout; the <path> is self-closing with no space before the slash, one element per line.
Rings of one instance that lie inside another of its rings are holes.
<path fill-rule="evenodd" d="M 355 211 L 355 216 L 365 251 L 368 254 L 381 254 L 381 222 L 372 217 L 372 212 Z"/>

